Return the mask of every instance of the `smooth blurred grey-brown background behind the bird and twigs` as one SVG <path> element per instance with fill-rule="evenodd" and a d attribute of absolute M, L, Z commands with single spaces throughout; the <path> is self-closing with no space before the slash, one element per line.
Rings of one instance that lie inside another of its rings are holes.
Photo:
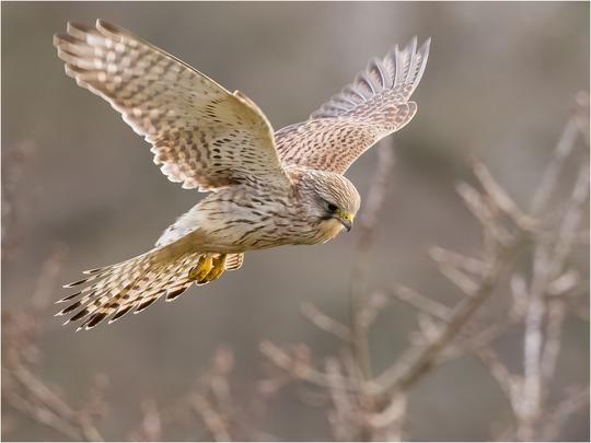
<path fill-rule="evenodd" d="M 2 3 L 2 174 L 19 154 L 21 179 L 2 207 L 2 310 L 30 302 L 44 263 L 62 255 L 51 299 L 80 271 L 150 248 L 201 195 L 166 180 L 149 147 L 111 109 L 63 73 L 51 45 L 67 21 L 117 23 L 241 90 L 275 128 L 300 121 L 350 82 L 373 56 L 417 35 L 431 36 L 427 71 L 415 93 L 415 119 L 395 135 L 393 186 L 369 254 L 372 288 L 404 283 L 454 301 L 426 254 L 428 245 L 475 253 L 478 225 L 454 186 L 477 154 L 499 183 L 525 203 L 535 189 L 575 96 L 589 90 L 589 3 Z M 14 155 L 13 155 L 14 156 Z M 375 150 L 348 172 L 363 196 Z M 7 214 L 7 211 L 10 213 Z M 362 210 L 362 209 L 361 209 Z M 7 218 L 4 218 L 7 215 Z M 140 404 L 167 405 L 193 386 L 216 349 L 234 354 L 233 395 L 244 403 L 264 376 L 258 345 L 308 343 L 322 359 L 340 343 L 299 315 L 303 302 L 347 319 L 356 230 L 312 247 L 246 255 L 239 272 L 193 288 L 175 303 L 74 334 L 51 308 L 44 317 L 36 374 L 73 405 L 95 374 L 108 381 L 109 440 L 128 438 Z M 580 252 L 584 264 L 588 250 Z M 588 266 L 588 265 L 587 265 Z M 587 270 L 588 272 L 588 270 Z M 588 279 L 589 276 L 587 275 Z M 43 282 L 40 283 L 43 285 Z M 406 347 L 412 311 L 393 304 L 372 331 L 376 368 Z M 589 324 L 565 324 L 557 392 L 589 383 Z M 515 368 L 522 336 L 498 349 Z M 3 440 L 63 436 L 3 405 Z M 409 404 L 413 440 L 487 440 L 510 420 L 509 404 L 485 368 L 463 358 L 416 386 Z M 8 421 L 7 421 L 8 420 Z M 4 427 L 5 424 L 5 427 Z M 323 413 L 296 389 L 270 400 L 260 429 L 279 440 L 331 440 Z M 169 432 L 169 438 L 183 438 Z M 197 434 L 194 438 L 198 438 Z M 240 435 L 239 435 L 240 438 Z M 245 439 L 246 436 L 242 436 Z M 560 435 L 589 440 L 589 409 Z"/>

